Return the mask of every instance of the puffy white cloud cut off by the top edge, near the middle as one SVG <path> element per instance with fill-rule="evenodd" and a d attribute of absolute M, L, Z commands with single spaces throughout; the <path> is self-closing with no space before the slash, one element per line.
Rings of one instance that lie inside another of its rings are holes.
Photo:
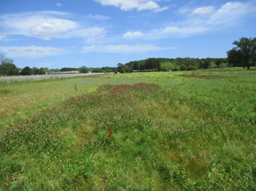
<path fill-rule="evenodd" d="M 130 11 L 132 9 L 137 9 L 138 11 L 143 9 L 154 10 L 156 12 L 164 11 L 168 9 L 168 7 L 160 8 L 160 6 L 151 0 L 94 0 L 103 6 L 112 5 L 119 7 L 121 10 Z"/>

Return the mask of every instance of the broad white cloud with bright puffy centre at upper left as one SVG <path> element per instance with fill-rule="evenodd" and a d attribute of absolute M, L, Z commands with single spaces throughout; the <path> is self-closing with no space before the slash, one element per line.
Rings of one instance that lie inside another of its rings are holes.
<path fill-rule="evenodd" d="M 96 15 L 98 19 L 107 17 Z M 38 11 L 9 15 L 0 15 L 3 35 L 25 35 L 43 40 L 67 39 L 104 35 L 103 27 L 88 27 L 81 22 L 73 21 L 74 15 L 60 11 Z M 0 36 L 1 37 L 1 36 Z M 5 37 L 5 36 L 3 36 Z"/>

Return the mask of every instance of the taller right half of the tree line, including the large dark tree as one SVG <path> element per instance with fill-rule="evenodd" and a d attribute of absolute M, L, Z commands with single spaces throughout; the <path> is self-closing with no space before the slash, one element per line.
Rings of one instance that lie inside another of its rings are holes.
<path fill-rule="evenodd" d="M 236 47 L 227 51 L 227 58 L 148 58 L 130 61 L 125 65 L 118 64 L 121 73 L 133 70 L 177 71 L 206 68 L 243 67 L 250 69 L 256 66 L 256 38 L 242 37 L 232 44 Z"/>

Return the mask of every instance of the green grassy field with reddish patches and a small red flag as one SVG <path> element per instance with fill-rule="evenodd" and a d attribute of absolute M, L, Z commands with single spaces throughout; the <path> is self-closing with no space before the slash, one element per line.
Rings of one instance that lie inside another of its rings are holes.
<path fill-rule="evenodd" d="M 0 190 L 256 190 L 256 71 L 0 84 Z"/>

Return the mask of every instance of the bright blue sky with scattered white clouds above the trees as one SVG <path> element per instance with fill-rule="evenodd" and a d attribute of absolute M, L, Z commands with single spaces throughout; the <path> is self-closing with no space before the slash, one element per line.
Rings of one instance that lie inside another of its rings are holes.
<path fill-rule="evenodd" d="M 256 37 L 256 1 L 0 0 L 0 54 L 18 68 L 226 58 Z"/>

